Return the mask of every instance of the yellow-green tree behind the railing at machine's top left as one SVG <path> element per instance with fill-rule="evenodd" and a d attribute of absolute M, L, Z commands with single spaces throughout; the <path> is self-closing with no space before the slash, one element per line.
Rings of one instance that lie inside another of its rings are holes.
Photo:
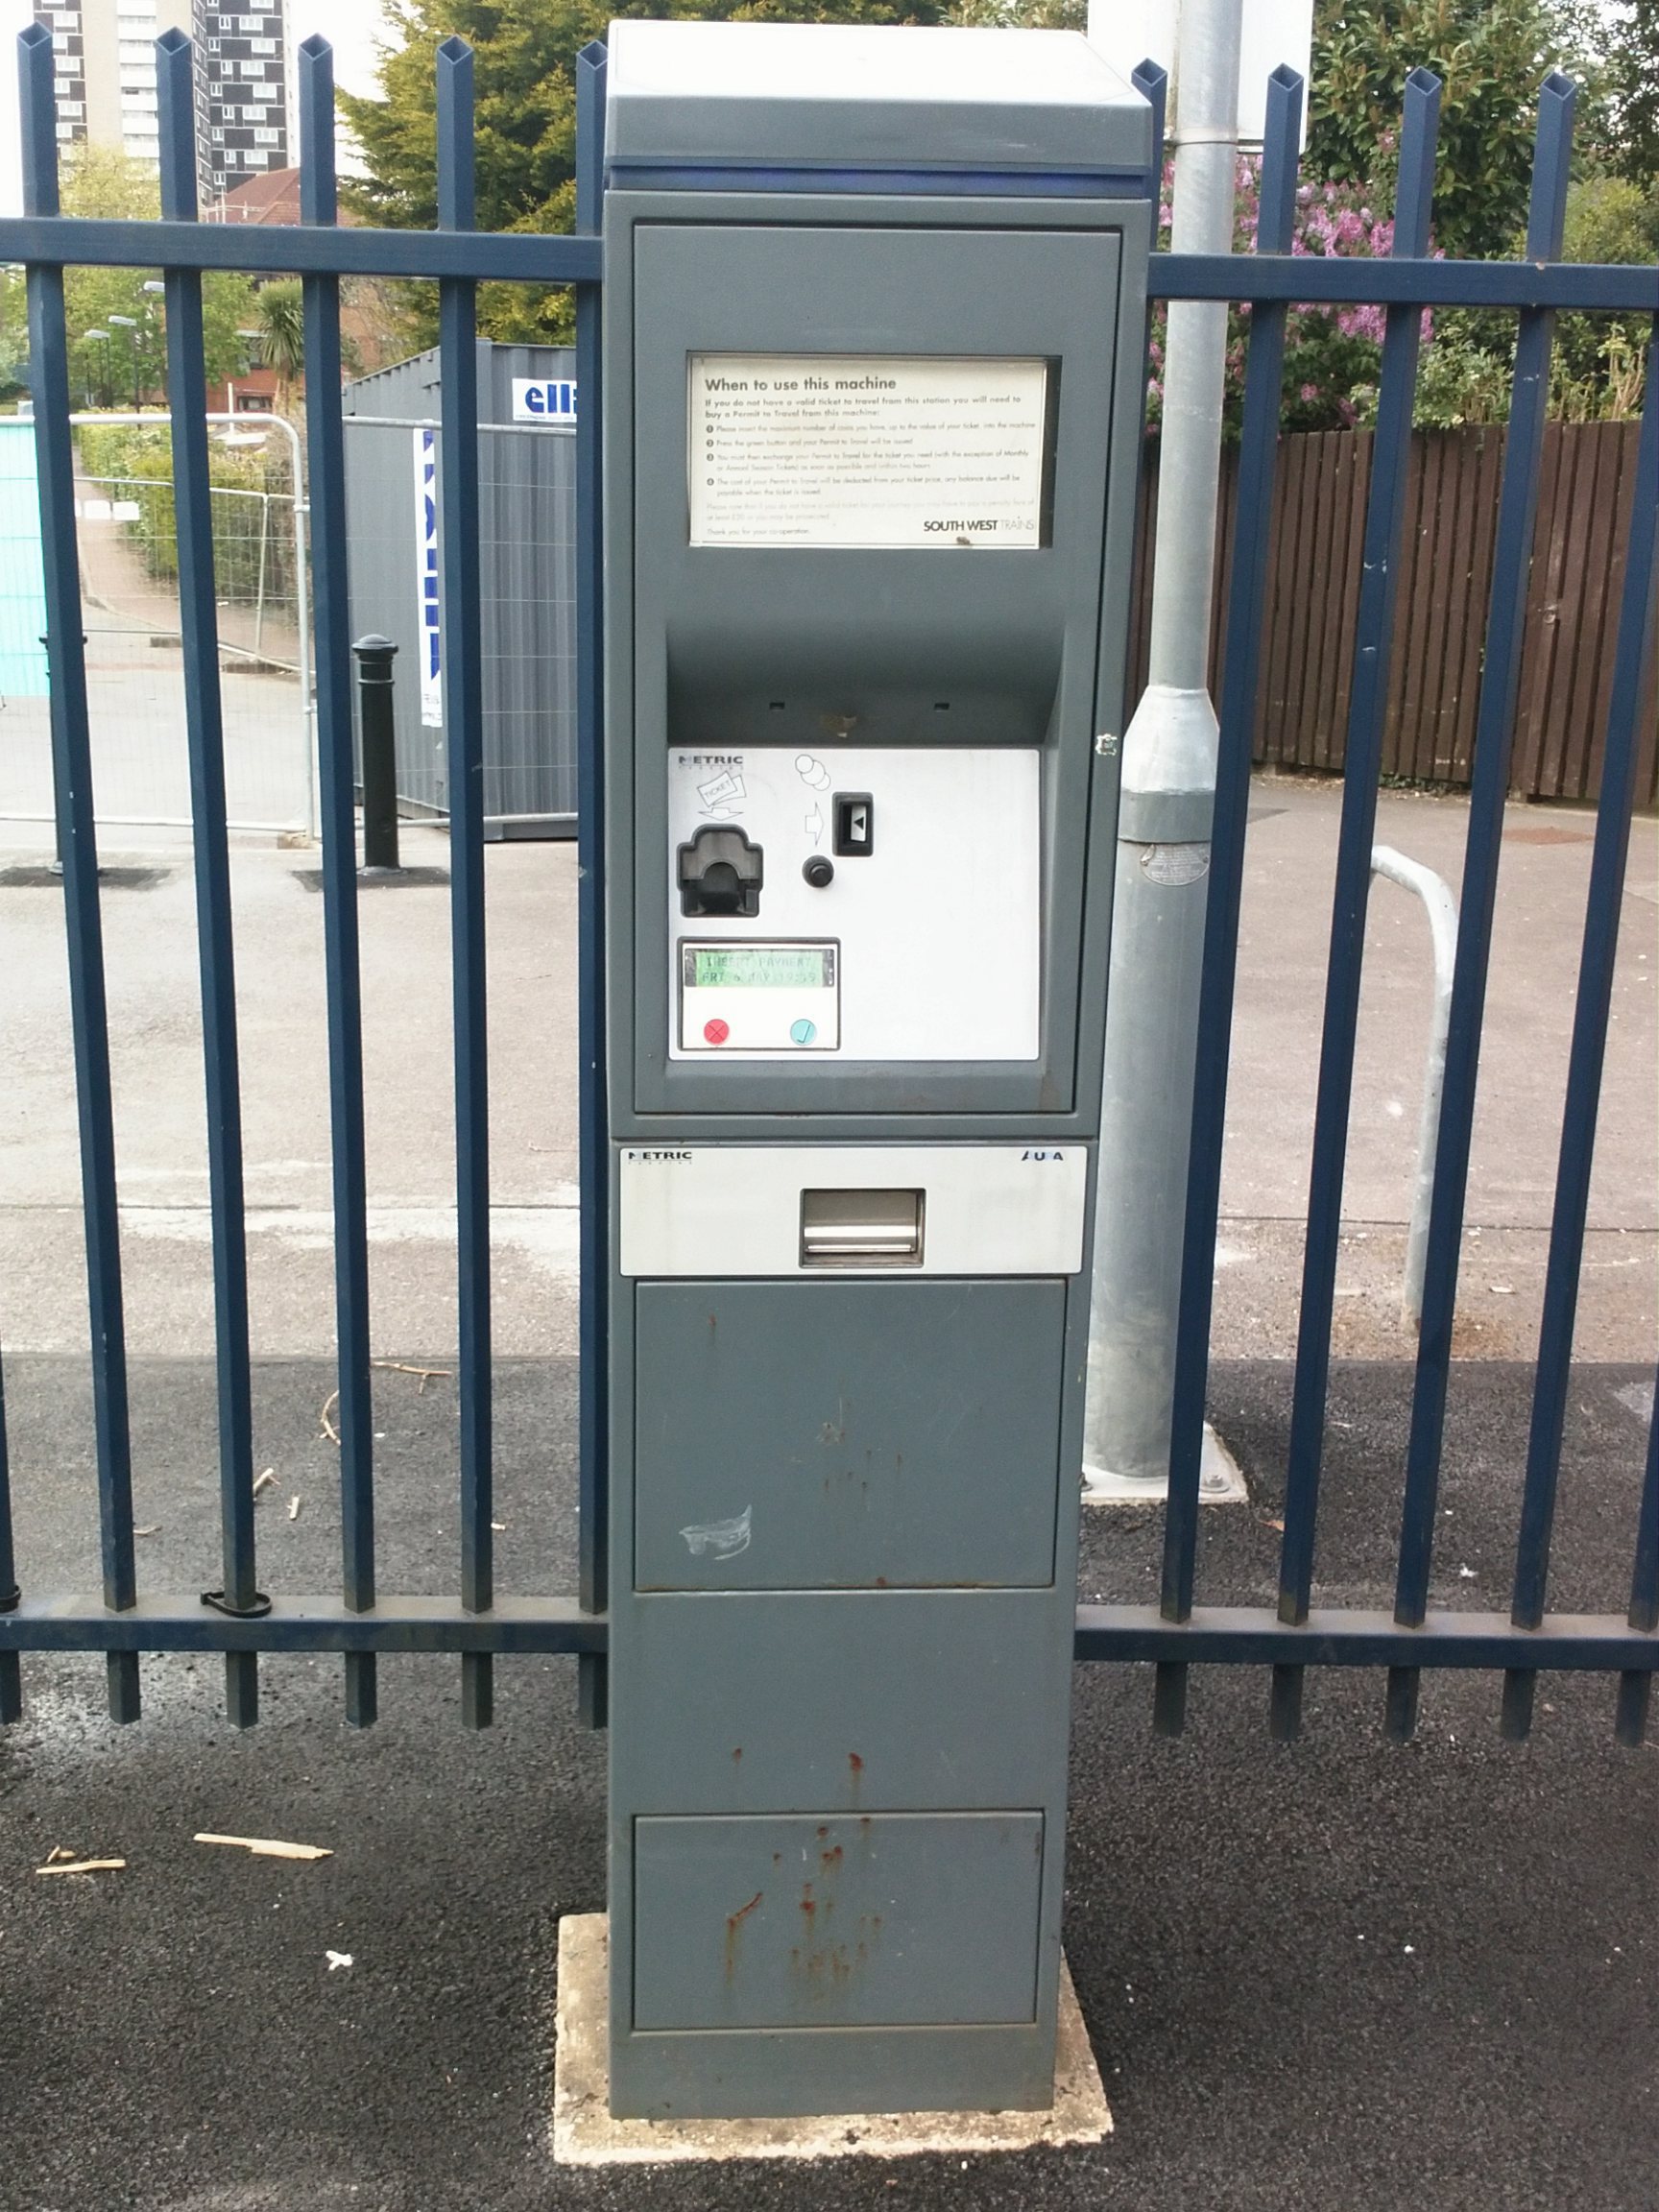
<path fill-rule="evenodd" d="M 940 22 L 938 0 L 389 0 L 394 44 L 380 97 L 341 93 L 367 175 L 343 184 L 372 223 L 429 230 L 438 221 L 434 53 L 451 33 L 473 49 L 478 228 L 557 232 L 575 226 L 575 58 L 617 15 L 697 22 Z M 409 338 L 431 345 L 431 285 L 409 288 Z M 564 345 L 566 288 L 484 285 L 478 330 L 489 338 Z"/>

